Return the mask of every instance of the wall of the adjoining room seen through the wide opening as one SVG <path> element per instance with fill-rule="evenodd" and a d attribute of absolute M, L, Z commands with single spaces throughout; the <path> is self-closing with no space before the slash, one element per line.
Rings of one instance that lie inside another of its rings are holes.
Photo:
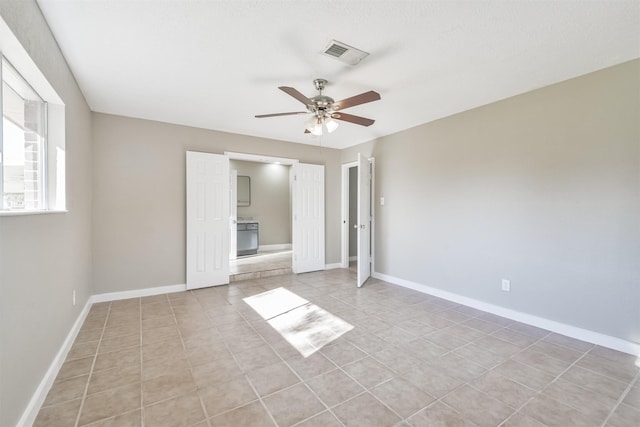
<path fill-rule="evenodd" d="M 231 169 L 251 177 L 251 205 L 239 217 L 260 222 L 260 246 L 291 243 L 290 166 L 232 160 Z"/>

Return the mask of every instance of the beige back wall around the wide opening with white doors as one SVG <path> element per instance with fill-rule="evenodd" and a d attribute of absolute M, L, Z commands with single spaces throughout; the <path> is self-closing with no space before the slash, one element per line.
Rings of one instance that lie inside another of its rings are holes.
<path fill-rule="evenodd" d="M 325 165 L 326 262 L 340 262 L 340 151 L 93 113 L 95 293 L 185 283 L 185 152 Z"/>

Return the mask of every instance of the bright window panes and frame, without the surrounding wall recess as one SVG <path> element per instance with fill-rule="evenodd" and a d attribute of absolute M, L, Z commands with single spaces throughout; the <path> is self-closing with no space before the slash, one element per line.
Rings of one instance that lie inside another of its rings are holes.
<path fill-rule="evenodd" d="M 2 58 L 3 210 L 47 209 L 47 104 Z"/>

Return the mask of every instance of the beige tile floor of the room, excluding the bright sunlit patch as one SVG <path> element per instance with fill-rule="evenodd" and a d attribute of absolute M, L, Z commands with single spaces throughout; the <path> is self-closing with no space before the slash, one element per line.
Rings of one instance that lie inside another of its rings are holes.
<path fill-rule="evenodd" d="M 95 304 L 36 426 L 637 426 L 636 358 L 351 270 Z M 301 357 L 243 298 L 354 325 Z"/>

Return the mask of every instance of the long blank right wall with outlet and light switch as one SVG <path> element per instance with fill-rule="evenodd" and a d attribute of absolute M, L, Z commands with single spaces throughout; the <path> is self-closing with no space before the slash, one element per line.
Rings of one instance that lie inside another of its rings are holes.
<path fill-rule="evenodd" d="M 640 342 L 638 76 L 636 60 L 344 150 L 376 158 L 376 270 Z"/>

